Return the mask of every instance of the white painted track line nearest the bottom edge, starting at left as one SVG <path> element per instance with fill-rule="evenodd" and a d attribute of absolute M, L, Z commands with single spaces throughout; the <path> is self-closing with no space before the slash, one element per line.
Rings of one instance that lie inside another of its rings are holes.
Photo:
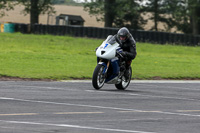
<path fill-rule="evenodd" d="M 69 127 L 69 128 L 79 128 L 79 129 L 90 129 L 90 130 L 101 130 L 101 131 L 112 131 L 112 132 L 124 132 L 124 133 L 155 133 L 155 132 L 146 132 L 146 131 L 134 131 L 134 130 L 123 130 L 123 129 L 111 129 L 111 128 L 98 128 L 98 127 L 87 127 L 87 126 L 68 125 L 68 124 L 38 123 L 38 122 L 24 122 L 24 121 L 4 121 L 4 120 L 0 120 L 0 122 L 12 123 L 12 124 L 27 124 L 27 125 Z"/>

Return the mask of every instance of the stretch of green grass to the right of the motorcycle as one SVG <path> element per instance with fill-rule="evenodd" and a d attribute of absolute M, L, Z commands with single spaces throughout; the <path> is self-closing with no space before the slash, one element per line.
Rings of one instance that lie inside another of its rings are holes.
<path fill-rule="evenodd" d="M 140 43 L 137 47 L 137 78 L 200 78 L 200 47 Z"/>

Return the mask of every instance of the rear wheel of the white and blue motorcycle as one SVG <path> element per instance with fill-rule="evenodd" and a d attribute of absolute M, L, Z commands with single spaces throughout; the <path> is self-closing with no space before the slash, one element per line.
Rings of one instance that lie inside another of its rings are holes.
<path fill-rule="evenodd" d="M 129 67 L 126 71 L 128 71 L 127 79 L 125 76 L 122 76 L 121 82 L 119 84 L 115 84 L 115 87 L 118 90 L 125 90 L 129 86 L 129 83 L 130 83 L 131 77 L 132 77 L 131 67 Z"/>

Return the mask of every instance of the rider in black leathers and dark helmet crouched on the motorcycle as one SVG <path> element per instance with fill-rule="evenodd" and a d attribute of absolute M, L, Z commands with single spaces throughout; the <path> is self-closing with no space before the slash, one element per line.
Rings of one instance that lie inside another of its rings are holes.
<path fill-rule="evenodd" d="M 126 27 L 119 29 L 115 35 L 116 41 L 120 44 L 122 60 L 126 62 L 126 69 L 131 65 L 133 59 L 135 59 L 136 52 L 136 42 Z M 128 71 L 125 71 L 125 77 L 128 78 Z"/>

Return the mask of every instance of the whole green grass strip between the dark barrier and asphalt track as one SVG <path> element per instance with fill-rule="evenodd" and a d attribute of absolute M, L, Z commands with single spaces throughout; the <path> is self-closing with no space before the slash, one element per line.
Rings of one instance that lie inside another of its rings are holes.
<path fill-rule="evenodd" d="M 0 76 L 36 79 L 91 78 L 94 49 L 103 40 L 0 33 Z M 133 77 L 200 79 L 200 47 L 137 43 Z"/>

